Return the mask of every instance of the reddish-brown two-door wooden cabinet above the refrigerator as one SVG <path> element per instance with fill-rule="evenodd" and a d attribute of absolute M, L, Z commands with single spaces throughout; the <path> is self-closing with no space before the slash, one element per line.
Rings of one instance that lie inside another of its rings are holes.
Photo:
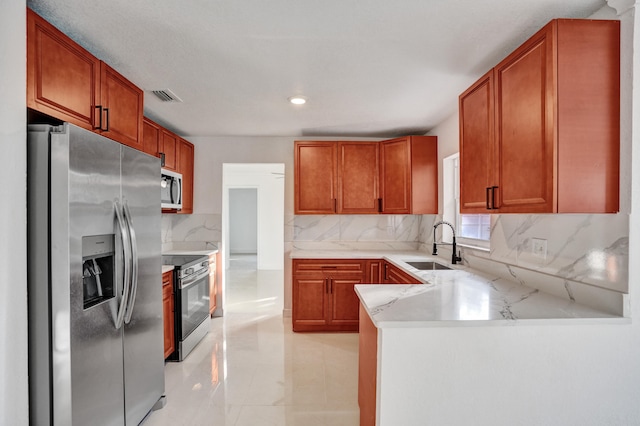
<path fill-rule="evenodd" d="M 142 90 L 31 9 L 27 106 L 142 150 Z"/>

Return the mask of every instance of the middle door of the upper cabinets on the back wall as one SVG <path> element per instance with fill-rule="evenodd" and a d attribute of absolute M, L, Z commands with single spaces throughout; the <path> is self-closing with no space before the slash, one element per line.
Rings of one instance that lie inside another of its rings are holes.
<path fill-rule="evenodd" d="M 378 213 L 379 146 L 338 143 L 338 213 Z"/>

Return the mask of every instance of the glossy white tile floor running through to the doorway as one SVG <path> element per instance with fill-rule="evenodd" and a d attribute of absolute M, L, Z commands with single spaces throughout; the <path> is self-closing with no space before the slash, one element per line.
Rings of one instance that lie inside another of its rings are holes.
<path fill-rule="evenodd" d="M 181 363 L 165 366 L 167 404 L 145 426 L 356 426 L 358 335 L 293 333 L 282 271 L 233 256 L 227 305 Z"/>

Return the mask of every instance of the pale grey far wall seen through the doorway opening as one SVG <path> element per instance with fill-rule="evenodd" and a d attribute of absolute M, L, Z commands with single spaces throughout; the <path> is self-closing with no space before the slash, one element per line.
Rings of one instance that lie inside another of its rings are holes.
<path fill-rule="evenodd" d="M 283 235 L 284 238 L 284 235 Z M 281 239 L 280 242 L 283 240 Z M 229 189 L 229 253 L 258 252 L 258 190 Z"/>

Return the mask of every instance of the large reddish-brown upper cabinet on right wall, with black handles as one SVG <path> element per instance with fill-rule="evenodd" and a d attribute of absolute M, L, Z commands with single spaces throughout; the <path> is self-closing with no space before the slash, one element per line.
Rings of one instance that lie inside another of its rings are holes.
<path fill-rule="evenodd" d="M 463 213 L 619 210 L 619 21 L 551 21 L 459 107 Z"/>

